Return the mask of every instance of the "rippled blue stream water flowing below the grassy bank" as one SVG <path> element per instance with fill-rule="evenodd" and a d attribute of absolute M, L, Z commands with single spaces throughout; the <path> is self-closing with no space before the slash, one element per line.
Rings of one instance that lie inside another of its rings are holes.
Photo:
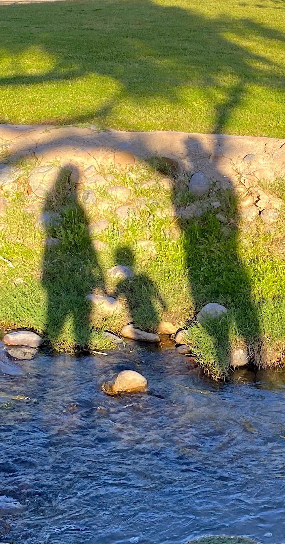
<path fill-rule="evenodd" d="M 0 493 L 24 505 L 0 514 L 0 540 L 284 541 L 284 375 L 217 385 L 173 350 L 129 352 L 40 355 L 0 375 L 0 391 L 28 397 L 0 410 Z M 102 382 L 126 368 L 150 391 L 107 397 Z"/>

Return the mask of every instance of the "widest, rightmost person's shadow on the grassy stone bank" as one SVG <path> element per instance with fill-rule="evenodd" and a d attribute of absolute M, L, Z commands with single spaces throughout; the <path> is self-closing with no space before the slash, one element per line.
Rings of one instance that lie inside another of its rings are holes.
<path fill-rule="evenodd" d="M 185 148 L 194 144 L 199 149 L 196 157 L 188 151 L 188 159 L 194 172 L 200 170 L 206 188 L 200 195 L 191 193 L 190 174 L 184 180 L 177 175 L 172 198 L 196 313 L 213 302 L 227 309 L 214 318 L 200 314 L 200 323 L 196 319 L 190 323 L 194 352 L 200 357 L 202 354 L 203 366 L 220 378 L 227 374 L 236 349 L 243 350 L 250 360 L 253 352 L 258 356 L 261 346 L 258 305 L 253 300 L 250 272 L 243 260 L 242 236 L 254 236 L 257 226 L 254 221 L 246 224 L 240 218 L 236 187 L 221 168 L 219 135 L 213 138 L 210 153 L 197 144 L 195 135 L 189 138 L 192 141 L 186 142 Z M 179 204 L 182 190 L 187 191 L 189 199 L 184 207 Z M 237 353 L 236 363 L 238 359 Z"/>

